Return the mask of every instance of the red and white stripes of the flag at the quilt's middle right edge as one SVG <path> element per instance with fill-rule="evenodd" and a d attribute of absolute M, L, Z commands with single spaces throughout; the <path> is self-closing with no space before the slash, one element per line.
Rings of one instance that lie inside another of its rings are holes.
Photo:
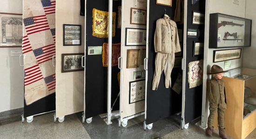
<path fill-rule="evenodd" d="M 52 57 L 55 55 L 55 44 L 46 45 L 41 48 L 44 54 L 36 57 L 38 64 L 51 60 Z"/>

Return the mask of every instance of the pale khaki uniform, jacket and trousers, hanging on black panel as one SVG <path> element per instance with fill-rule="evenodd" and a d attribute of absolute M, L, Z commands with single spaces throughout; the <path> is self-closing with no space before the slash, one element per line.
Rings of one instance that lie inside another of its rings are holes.
<path fill-rule="evenodd" d="M 162 71 L 165 74 L 165 87 L 171 86 L 171 72 L 174 66 L 175 53 L 181 51 L 176 23 L 167 15 L 156 21 L 155 29 L 155 73 L 152 90 L 157 89 Z"/>

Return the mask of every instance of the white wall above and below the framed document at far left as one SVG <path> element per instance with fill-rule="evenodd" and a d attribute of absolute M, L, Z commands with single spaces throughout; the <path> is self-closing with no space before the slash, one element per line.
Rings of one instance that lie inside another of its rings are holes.
<path fill-rule="evenodd" d="M 0 0 L 0 13 L 22 13 L 22 0 Z M 12 50 L 0 48 L 0 112 L 23 107 L 23 67 Z"/>

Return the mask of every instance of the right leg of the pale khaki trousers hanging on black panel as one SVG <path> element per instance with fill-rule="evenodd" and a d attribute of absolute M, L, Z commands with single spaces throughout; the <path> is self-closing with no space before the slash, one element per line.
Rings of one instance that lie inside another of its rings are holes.
<path fill-rule="evenodd" d="M 170 53 L 167 54 L 167 61 L 164 65 L 164 76 L 165 76 L 165 88 L 169 88 L 172 83 L 171 83 L 171 73 L 172 73 L 172 69 L 174 66 L 174 60 L 175 60 L 175 54 L 174 53 Z"/>

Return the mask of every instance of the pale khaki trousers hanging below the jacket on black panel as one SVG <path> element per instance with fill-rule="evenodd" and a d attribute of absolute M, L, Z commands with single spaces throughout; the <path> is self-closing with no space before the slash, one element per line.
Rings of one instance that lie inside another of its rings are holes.
<path fill-rule="evenodd" d="M 153 77 L 152 90 L 157 89 L 162 71 L 165 75 L 165 88 L 171 86 L 171 72 L 174 66 L 175 53 L 157 52 L 155 57 L 155 73 Z"/>

